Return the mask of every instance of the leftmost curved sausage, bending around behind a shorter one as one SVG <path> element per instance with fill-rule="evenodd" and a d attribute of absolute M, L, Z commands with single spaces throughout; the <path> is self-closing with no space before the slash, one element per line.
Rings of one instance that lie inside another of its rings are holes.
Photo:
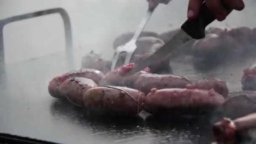
<path fill-rule="evenodd" d="M 62 98 L 61 93 L 59 92 L 59 86 L 61 85 L 61 83 L 71 77 L 85 77 L 99 84 L 101 79 L 104 77 L 104 74 L 96 69 L 81 68 L 78 70 L 72 70 L 62 75 L 58 75 L 49 82 L 48 91 L 51 96 L 55 98 Z"/>

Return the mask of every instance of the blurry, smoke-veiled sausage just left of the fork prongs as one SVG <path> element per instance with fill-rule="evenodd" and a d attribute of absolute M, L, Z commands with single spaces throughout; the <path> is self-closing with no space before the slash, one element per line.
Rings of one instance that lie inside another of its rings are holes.
<path fill-rule="evenodd" d="M 101 59 L 101 56 L 94 51 L 85 54 L 82 58 L 81 67 L 88 69 L 96 69 L 104 74 L 110 71 L 111 69 L 111 61 L 106 61 Z"/>

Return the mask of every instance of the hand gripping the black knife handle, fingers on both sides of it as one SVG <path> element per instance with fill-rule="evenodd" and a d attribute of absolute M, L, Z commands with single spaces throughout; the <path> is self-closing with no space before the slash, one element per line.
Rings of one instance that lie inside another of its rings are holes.
<path fill-rule="evenodd" d="M 205 0 L 209 11 L 218 21 L 223 21 L 233 10 L 242 11 L 245 7 L 243 0 Z M 188 19 L 194 19 L 198 16 L 202 0 L 189 0 Z"/>

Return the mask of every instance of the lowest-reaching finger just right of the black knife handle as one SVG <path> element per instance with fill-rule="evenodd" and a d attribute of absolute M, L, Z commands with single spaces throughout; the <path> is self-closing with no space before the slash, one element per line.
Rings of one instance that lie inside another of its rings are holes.
<path fill-rule="evenodd" d="M 229 14 L 221 0 L 205 0 L 206 6 L 209 11 L 216 17 L 218 21 L 223 21 Z"/>

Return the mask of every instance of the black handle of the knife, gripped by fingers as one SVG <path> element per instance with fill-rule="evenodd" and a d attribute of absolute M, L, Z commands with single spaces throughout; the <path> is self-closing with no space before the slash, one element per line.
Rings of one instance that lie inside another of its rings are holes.
<path fill-rule="evenodd" d="M 215 20 L 215 16 L 208 10 L 205 2 L 203 2 L 199 16 L 196 19 L 185 21 L 181 29 L 194 39 L 202 39 L 205 37 L 205 27 Z"/>

